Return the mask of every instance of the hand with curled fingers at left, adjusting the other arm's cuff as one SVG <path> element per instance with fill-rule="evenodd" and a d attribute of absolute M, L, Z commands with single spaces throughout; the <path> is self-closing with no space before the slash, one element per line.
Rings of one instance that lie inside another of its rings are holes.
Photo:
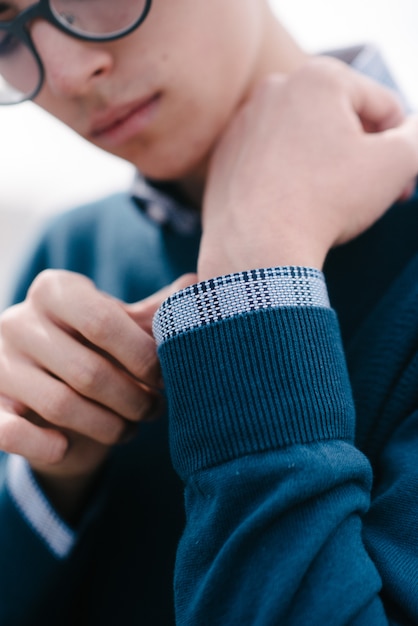
<path fill-rule="evenodd" d="M 158 415 L 160 370 L 151 335 L 179 279 L 126 305 L 84 276 L 48 270 L 0 318 L 0 449 L 31 463 L 70 515 L 127 429 Z"/>

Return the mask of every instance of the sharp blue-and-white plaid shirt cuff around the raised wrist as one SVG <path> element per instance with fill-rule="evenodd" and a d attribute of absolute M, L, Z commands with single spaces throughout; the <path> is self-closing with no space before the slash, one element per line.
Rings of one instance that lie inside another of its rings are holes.
<path fill-rule="evenodd" d="M 273 267 L 227 274 L 186 287 L 154 317 L 157 345 L 189 330 L 259 309 L 329 308 L 325 278 L 310 267 Z"/>

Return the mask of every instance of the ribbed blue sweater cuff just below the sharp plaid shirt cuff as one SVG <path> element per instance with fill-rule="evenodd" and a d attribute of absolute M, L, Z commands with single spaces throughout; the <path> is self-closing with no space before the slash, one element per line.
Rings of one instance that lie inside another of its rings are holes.
<path fill-rule="evenodd" d="M 354 436 L 354 409 L 331 309 L 249 312 L 159 348 L 179 475 L 297 443 Z"/>

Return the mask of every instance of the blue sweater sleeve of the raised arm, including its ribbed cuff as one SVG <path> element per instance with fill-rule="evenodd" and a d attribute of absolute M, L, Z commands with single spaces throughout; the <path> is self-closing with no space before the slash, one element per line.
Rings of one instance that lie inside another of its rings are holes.
<path fill-rule="evenodd" d="M 215 315 L 214 289 L 189 288 L 155 320 L 185 484 L 177 623 L 388 624 L 334 311 L 291 299 Z"/>

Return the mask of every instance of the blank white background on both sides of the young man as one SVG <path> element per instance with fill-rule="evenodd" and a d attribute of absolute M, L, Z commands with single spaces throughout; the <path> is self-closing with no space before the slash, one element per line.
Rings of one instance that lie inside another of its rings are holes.
<path fill-rule="evenodd" d="M 407 99 L 418 108 L 417 0 L 271 0 L 271 4 L 309 52 L 377 44 Z M 0 107 L 0 146 L 1 308 L 23 250 L 43 220 L 125 188 L 132 168 L 89 146 L 32 104 Z"/>

